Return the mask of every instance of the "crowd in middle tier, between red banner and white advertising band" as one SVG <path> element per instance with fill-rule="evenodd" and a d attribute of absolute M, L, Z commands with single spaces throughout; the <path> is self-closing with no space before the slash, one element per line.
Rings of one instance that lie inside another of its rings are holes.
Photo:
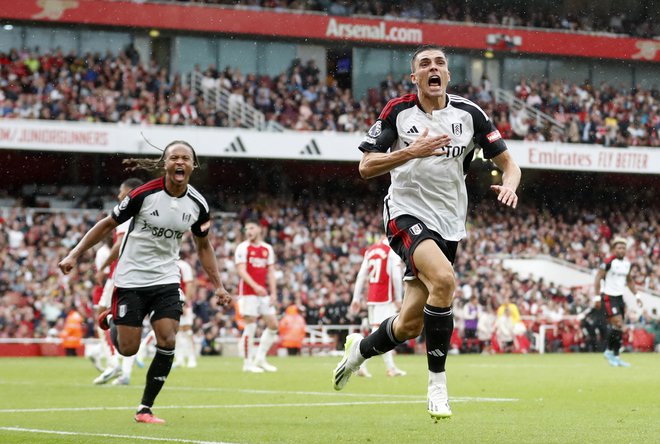
<path fill-rule="evenodd" d="M 0 53 L 0 117 L 117 122 L 120 124 L 237 126 L 205 103 L 204 90 L 231 92 L 229 106 L 247 103 L 267 120 L 293 130 L 366 132 L 393 97 L 415 91 L 407 76 L 383 79 L 362 98 L 320 78 L 314 61 L 294 60 L 274 78 L 238 69 L 197 67 L 199 91 L 154 62 L 140 63 L 132 48 L 107 53 Z M 530 113 L 495 101 L 491 82 L 452 85 L 480 104 L 507 139 L 595 143 L 606 146 L 660 146 L 660 92 L 641 87 L 574 84 L 522 79 L 513 93 L 530 107 L 565 126 L 553 130 Z"/>

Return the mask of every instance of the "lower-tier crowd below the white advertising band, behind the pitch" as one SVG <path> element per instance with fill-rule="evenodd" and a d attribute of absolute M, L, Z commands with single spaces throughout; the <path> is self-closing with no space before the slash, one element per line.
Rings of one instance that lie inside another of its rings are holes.
<path fill-rule="evenodd" d="M 476 204 L 469 216 L 469 236 L 461 243 L 455 264 L 457 332 L 452 344 L 456 350 L 497 347 L 495 350 L 525 351 L 532 332 L 548 323 L 557 326 L 555 335 L 548 337 L 551 350 L 595 350 L 601 344 L 601 337 L 589 337 L 588 333 L 602 333 L 596 328 L 598 319 L 590 315 L 589 309 L 596 303 L 590 288 L 569 288 L 520 276 L 503 267 L 503 254 L 546 254 L 593 270 L 608 253 L 611 237 L 624 235 L 636 284 L 660 290 L 657 209 L 621 202 L 594 207 L 588 201 L 585 197 L 556 211 L 538 203 L 522 205 L 516 212 L 491 200 Z M 369 198 L 352 200 L 346 196 L 344 202 L 335 203 L 331 199 L 262 195 L 223 213 L 215 218 L 211 240 L 226 287 L 232 291 L 238 282 L 233 254 L 243 240 L 242 222 L 258 218 L 277 257 L 278 314 L 293 304 L 308 325 L 360 324 L 366 311 L 353 316 L 348 307 L 362 253 L 382 232 L 377 208 L 378 201 Z M 62 328 L 71 307 L 83 314 L 87 334 L 93 334 L 94 252 L 82 256 L 78 268 L 67 276 L 59 272 L 57 263 L 102 214 L 14 206 L 5 207 L 1 216 L 0 337 L 44 337 Z M 190 239 L 184 240 L 182 252 L 198 276 L 196 294 L 188 295 L 196 315 L 194 330 L 208 340 L 239 336 L 234 308 L 219 307 L 211 298 L 210 285 Z M 463 340 L 467 325 L 463 318 L 469 318 L 464 306 L 473 297 L 482 317 L 481 330 L 486 332 L 478 343 Z M 526 321 L 522 331 L 516 322 L 507 323 L 506 317 L 500 320 L 509 313 L 501 309 L 507 304 L 515 305 L 515 311 Z M 626 321 L 630 326 L 658 331 L 657 313 L 644 307 L 629 308 Z M 586 337 L 580 336 L 583 332 L 587 332 Z M 495 337 L 500 339 L 491 343 Z M 573 342 L 566 342 L 568 338 Z"/>

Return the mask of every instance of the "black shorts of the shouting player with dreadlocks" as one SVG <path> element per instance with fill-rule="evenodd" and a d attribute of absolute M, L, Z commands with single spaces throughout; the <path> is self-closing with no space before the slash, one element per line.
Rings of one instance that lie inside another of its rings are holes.
<path fill-rule="evenodd" d="M 142 327 L 142 321 L 150 313 L 152 322 L 163 318 L 178 321 L 183 313 L 179 284 L 115 288 L 112 298 L 115 324 Z"/>

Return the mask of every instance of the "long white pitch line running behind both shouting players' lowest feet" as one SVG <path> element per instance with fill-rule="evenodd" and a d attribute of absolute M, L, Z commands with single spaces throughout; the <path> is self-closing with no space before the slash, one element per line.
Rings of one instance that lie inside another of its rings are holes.
<path fill-rule="evenodd" d="M 515 402 L 514 398 L 450 398 L 451 402 Z M 357 405 L 386 405 L 386 404 L 422 404 L 425 399 L 397 400 L 397 401 L 362 401 L 362 402 L 305 402 L 305 403 L 272 403 L 272 404 L 216 404 L 216 405 L 164 405 L 158 406 L 160 410 L 201 410 L 201 409 L 251 409 L 251 408 L 277 408 L 277 407 L 344 407 Z M 0 413 L 49 413 L 49 412 L 84 412 L 102 410 L 135 410 L 135 407 L 52 407 L 35 409 L 0 409 Z"/>

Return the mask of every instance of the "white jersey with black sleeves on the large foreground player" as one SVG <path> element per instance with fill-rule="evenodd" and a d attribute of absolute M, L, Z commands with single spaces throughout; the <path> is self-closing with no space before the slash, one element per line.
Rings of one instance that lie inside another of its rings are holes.
<path fill-rule="evenodd" d="M 424 112 L 416 94 L 390 100 L 359 148 L 363 152 L 397 151 L 412 144 L 425 129 L 428 137 L 448 134 L 447 154 L 412 159 L 390 171 L 391 185 L 383 208 L 385 226 L 408 214 L 424 222 L 444 239 L 465 237 L 467 189 L 465 176 L 480 146 L 490 159 L 506 151 L 506 144 L 486 113 L 475 103 L 453 94 L 447 106 Z"/>

